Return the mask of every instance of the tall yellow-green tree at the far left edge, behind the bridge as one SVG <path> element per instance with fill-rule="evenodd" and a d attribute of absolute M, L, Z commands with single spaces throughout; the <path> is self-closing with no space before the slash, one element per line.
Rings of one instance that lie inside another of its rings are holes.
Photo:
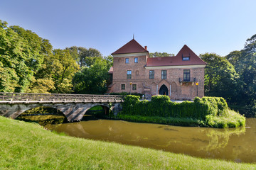
<path fill-rule="evenodd" d="M 22 92 L 33 77 L 26 51 L 29 45 L 6 22 L 0 21 L 0 25 L 0 91 Z"/>

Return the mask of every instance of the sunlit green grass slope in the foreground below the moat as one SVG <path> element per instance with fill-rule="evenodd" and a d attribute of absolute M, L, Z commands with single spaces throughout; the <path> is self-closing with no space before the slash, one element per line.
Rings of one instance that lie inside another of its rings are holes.
<path fill-rule="evenodd" d="M 0 169 L 256 169 L 256 164 L 58 135 L 1 116 L 0 139 Z"/>

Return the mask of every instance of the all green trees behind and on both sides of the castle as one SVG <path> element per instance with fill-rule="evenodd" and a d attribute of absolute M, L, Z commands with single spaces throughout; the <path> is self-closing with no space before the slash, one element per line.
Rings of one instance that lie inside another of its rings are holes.
<path fill-rule="evenodd" d="M 172 56 L 166 52 L 151 57 Z M 205 96 L 223 97 L 247 116 L 256 116 L 256 34 L 227 56 L 199 55 L 207 62 Z M 105 94 L 112 56 L 85 47 L 53 49 L 49 40 L 0 20 L 0 91 Z"/>

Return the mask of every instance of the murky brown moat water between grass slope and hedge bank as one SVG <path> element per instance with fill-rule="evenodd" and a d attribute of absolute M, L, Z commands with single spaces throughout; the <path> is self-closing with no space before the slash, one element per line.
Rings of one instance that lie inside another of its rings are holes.
<path fill-rule="evenodd" d="M 250 128 L 214 129 L 91 120 L 47 128 L 75 137 L 162 149 L 195 157 L 256 162 L 256 119 L 247 119 L 246 126 Z"/>

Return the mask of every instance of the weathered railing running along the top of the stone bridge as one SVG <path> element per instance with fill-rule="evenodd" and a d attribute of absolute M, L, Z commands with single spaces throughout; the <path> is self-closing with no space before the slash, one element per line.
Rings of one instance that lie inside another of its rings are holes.
<path fill-rule="evenodd" d="M 0 92 L 0 102 L 31 103 L 31 102 L 122 102 L 119 95 L 94 94 L 26 94 Z"/>

